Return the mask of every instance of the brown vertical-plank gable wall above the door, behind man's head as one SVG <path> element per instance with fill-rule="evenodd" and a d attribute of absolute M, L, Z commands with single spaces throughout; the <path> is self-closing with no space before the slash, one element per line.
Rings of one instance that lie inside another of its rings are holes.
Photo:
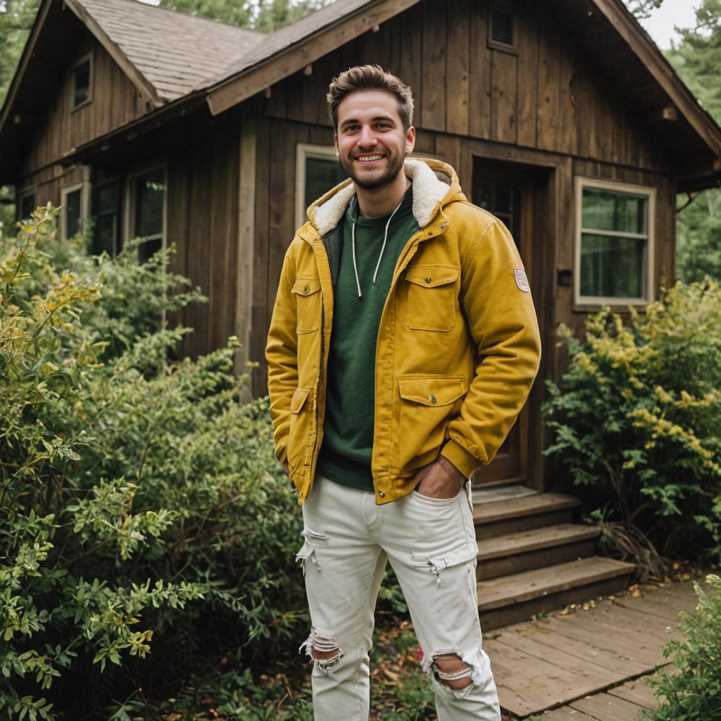
<path fill-rule="evenodd" d="M 547 8 L 521 0 L 518 55 L 487 47 L 487 2 L 424 0 L 273 87 L 267 115 L 328 125 L 329 81 L 379 63 L 415 94 L 417 128 L 668 171 L 663 153 Z"/>

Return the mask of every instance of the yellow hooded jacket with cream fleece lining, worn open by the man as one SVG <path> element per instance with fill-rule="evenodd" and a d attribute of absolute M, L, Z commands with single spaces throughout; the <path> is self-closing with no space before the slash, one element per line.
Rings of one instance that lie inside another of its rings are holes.
<path fill-rule="evenodd" d="M 376 503 L 410 492 L 416 469 L 439 452 L 466 477 L 491 461 L 541 355 L 526 275 L 503 223 L 466 200 L 445 163 L 407 160 L 405 172 L 420 230 L 398 258 L 378 329 Z M 333 319 L 327 247 L 354 192 L 347 180 L 308 209 L 283 262 L 268 332 L 275 454 L 288 461 L 298 503 L 313 486 L 323 440 Z"/>

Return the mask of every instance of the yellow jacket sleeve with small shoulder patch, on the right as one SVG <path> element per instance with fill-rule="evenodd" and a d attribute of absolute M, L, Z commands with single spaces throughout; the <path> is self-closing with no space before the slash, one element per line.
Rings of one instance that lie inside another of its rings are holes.
<path fill-rule="evenodd" d="M 461 306 L 477 365 L 441 454 L 470 477 L 492 461 L 521 412 L 538 373 L 541 342 L 521 257 L 503 223 L 493 221 L 461 265 Z"/>

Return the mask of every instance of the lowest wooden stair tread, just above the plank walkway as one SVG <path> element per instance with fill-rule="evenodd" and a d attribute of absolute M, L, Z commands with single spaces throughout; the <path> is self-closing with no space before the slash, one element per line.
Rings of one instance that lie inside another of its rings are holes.
<path fill-rule="evenodd" d="M 632 563 L 593 556 L 502 578 L 479 581 L 478 607 L 480 611 L 487 611 L 510 606 L 513 603 L 614 578 L 630 573 L 634 569 Z"/>

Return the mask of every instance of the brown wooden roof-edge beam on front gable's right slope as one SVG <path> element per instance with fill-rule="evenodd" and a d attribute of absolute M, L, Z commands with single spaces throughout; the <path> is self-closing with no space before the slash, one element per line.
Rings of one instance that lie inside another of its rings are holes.
<path fill-rule="evenodd" d="M 632 14 L 617 0 L 593 0 L 603 17 L 616 28 L 630 50 L 648 68 L 656 82 L 671 98 L 673 104 L 684 115 L 692 128 L 717 156 L 721 157 L 721 131 L 701 107 L 691 91 L 678 78 L 671 63 L 645 33 L 639 32 L 638 23 Z"/>

